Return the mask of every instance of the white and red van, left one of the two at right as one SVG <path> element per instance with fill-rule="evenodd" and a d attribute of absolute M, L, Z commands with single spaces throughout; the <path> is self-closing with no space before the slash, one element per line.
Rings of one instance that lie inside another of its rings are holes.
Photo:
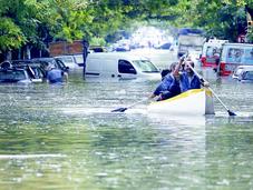
<path fill-rule="evenodd" d="M 222 46 L 228 40 L 211 39 L 203 44 L 201 62 L 202 67 L 217 68 L 218 60 L 222 53 Z"/>

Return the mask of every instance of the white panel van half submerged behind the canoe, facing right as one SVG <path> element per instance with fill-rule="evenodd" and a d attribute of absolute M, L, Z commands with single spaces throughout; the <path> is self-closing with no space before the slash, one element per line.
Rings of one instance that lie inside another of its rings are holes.
<path fill-rule="evenodd" d="M 124 52 L 89 53 L 86 77 L 160 80 L 160 72 L 147 58 Z"/>

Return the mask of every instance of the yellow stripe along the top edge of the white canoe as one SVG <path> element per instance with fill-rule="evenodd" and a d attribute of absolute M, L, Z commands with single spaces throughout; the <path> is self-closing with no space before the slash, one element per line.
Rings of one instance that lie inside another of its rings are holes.
<path fill-rule="evenodd" d="M 152 104 L 153 104 L 153 103 L 171 102 L 171 101 L 174 101 L 174 100 L 184 99 L 184 98 L 187 98 L 187 97 L 189 97 L 189 96 L 192 96 L 192 94 L 196 94 L 196 93 L 200 93 L 200 92 L 203 92 L 203 91 L 205 91 L 205 93 L 206 93 L 207 96 L 210 96 L 210 97 L 212 96 L 212 92 L 211 92 L 211 90 L 208 90 L 208 89 L 192 89 L 192 90 L 187 90 L 187 91 L 185 91 L 185 92 L 183 92 L 183 93 L 181 93 L 181 94 L 178 94 L 178 96 L 176 96 L 176 97 L 169 98 L 169 99 L 167 99 L 167 100 L 152 102 Z"/>

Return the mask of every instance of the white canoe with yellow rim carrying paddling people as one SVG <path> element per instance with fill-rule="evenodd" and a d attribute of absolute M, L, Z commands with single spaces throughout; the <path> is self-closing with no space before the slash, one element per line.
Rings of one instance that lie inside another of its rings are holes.
<path fill-rule="evenodd" d="M 152 102 L 148 113 L 174 116 L 214 114 L 213 93 L 208 89 L 193 89 L 167 100 Z"/>

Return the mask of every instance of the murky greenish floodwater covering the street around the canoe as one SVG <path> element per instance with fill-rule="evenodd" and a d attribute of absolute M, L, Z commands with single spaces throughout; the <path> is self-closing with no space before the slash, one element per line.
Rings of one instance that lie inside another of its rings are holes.
<path fill-rule="evenodd" d="M 215 116 L 152 117 L 157 81 L 0 86 L 0 189 L 253 189 L 253 84 L 210 78 Z"/>

